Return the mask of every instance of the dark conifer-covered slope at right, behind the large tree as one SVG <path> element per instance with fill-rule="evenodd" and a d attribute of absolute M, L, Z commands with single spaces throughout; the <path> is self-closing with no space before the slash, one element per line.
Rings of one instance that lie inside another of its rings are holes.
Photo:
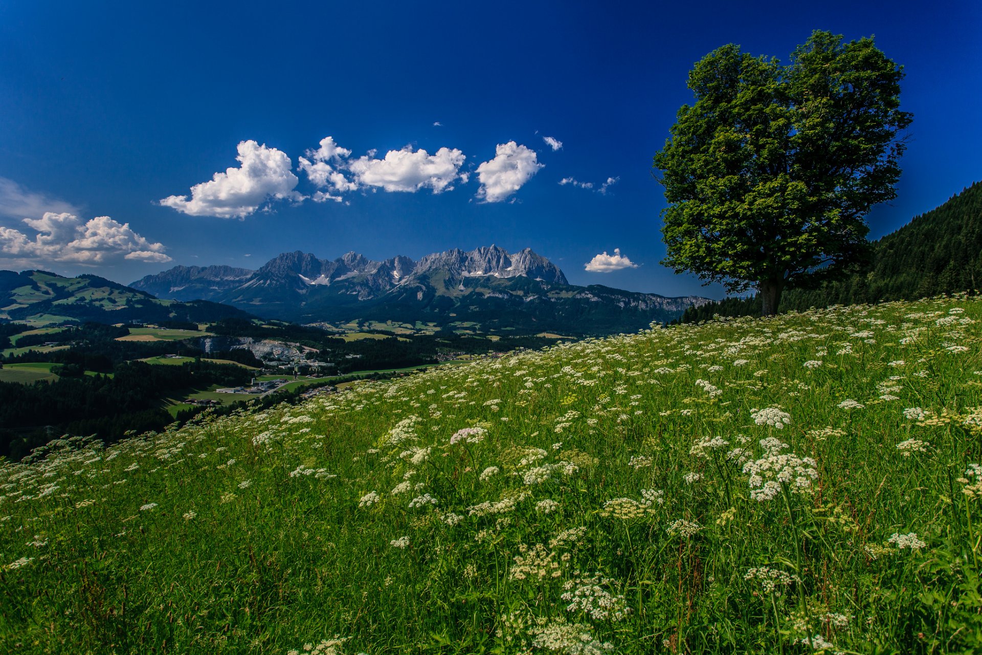
<path fill-rule="evenodd" d="M 952 196 L 941 206 L 915 216 L 899 230 L 873 243 L 869 263 L 844 280 L 815 289 L 791 289 L 781 311 L 831 304 L 917 300 L 978 290 L 982 285 L 982 183 Z M 714 313 L 760 313 L 760 300 L 727 299 L 686 310 L 683 322 Z"/>

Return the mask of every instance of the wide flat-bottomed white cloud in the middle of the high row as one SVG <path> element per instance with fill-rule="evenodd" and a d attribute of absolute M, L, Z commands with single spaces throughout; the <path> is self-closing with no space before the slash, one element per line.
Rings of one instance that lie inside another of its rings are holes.
<path fill-rule="evenodd" d="M 351 161 L 348 168 L 361 186 L 409 192 L 429 188 L 440 193 L 452 191 L 459 177 L 466 182 L 460 175 L 464 159 L 464 153 L 457 148 L 442 147 L 431 155 L 422 148 L 413 152 L 406 146 L 389 150 L 384 159 L 374 159 L 374 153 L 369 152 Z"/>

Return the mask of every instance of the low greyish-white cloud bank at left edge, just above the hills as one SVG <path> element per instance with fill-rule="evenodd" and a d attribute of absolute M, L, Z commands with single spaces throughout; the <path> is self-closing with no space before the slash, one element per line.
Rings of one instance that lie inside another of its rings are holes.
<path fill-rule="evenodd" d="M 120 259 L 162 263 L 171 258 L 163 244 L 151 244 L 136 234 L 129 223 L 108 216 L 87 222 L 69 212 L 45 212 L 41 218 L 23 220 L 34 234 L 0 227 L 0 254 L 19 261 L 103 264 Z"/>

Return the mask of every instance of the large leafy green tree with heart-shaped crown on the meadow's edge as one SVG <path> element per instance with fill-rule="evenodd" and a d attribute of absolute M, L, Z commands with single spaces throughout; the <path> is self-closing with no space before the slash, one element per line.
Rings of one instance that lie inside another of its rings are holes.
<path fill-rule="evenodd" d="M 688 76 L 695 103 L 655 155 L 669 202 L 662 263 L 756 289 L 768 315 L 786 288 L 861 261 L 866 213 L 896 196 L 911 121 L 902 78 L 872 38 L 827 31 L 788 65 L 733 44 L 706 55 Z"/>

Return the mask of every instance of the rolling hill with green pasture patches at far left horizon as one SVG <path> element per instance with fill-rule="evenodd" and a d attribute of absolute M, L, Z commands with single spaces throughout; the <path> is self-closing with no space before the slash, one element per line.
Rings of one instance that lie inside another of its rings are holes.
<path fill-rule="evenodd" d="M 46 271 L 0 271 L 0 319 L 127 323 L 248 316 L 242 309 L 207 300 L 157 300 L 95 275 L 66 278 Z"/>

